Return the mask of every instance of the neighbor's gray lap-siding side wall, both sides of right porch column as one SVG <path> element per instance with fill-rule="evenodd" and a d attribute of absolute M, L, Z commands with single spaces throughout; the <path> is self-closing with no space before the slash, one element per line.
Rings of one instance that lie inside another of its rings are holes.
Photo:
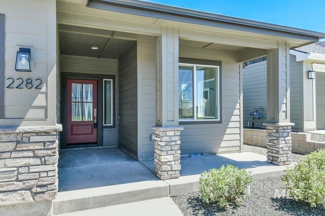
<path fill-rule="evenodd" d="M 303 109 L 302 109 L 302 76 L 303 63 L 296 61 L 295 55 L 290 55 L 290 121 L 295 123 L 293 130 L 302 131 Z M 250 64 L 243 69 L 243 105 L 244 126 L 248 121 L 251 126 L 252 117 L 249 116 L 254 108 L 261 110 L 262 119 L 255 119 L 255 126 L 264 127 L 267 122 L 267 61 Z"/>

